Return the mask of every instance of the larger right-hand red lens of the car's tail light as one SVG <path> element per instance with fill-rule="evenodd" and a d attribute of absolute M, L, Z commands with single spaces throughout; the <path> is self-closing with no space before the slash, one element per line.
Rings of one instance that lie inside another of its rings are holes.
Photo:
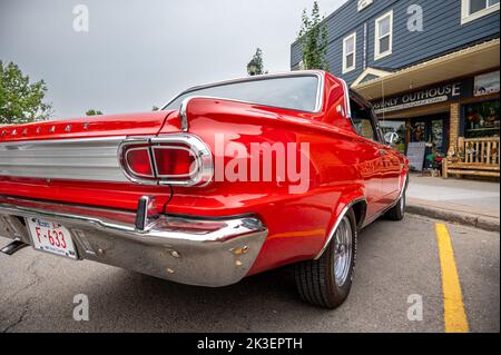
<path fill-rule="evenodd" d="M 181 147 L 154 147 L 155 165 L 158 177 L 183 178 L 196 171 L 195 156 Z"/>

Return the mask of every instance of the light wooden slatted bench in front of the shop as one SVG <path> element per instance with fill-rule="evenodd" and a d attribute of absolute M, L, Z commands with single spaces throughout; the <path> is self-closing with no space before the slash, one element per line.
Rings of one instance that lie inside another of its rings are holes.
<path fill-rule="evenodd" d="M 449 175 L 500 177 L 499 137 L 458 139 L 456 152 L 443 161 L 442 177 Z"/>

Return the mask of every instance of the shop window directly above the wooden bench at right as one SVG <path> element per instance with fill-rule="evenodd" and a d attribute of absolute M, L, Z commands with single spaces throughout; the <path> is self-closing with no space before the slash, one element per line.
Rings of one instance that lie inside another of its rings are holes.
<path fill-rule="evenodd" d="M 498 100 L 465 105 L 464 136 L 466 138 L 499 137 Z"/>

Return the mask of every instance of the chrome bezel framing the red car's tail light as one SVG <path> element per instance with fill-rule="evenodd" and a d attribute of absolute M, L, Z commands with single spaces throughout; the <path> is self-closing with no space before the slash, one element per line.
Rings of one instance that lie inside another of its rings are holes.
<path fill-rule="evenodd" d="M 134 147 L 147 147 L 154 177 L 136 175 L 127 162 L 127 151 Z M 155 149 L 188 150 L 194 159 L 195 167 L 187 175 L 159 175 L 155 159 Z M 214 159 L 210 148 L 197 136 L 191 134 L 171 134 L 156 137 L 127 137 L 118 147 L 118 159 L 124 175 L 132 183 L 141 185 L 173 185 L 173 186 L 206 186 L 214 177 Z"/>

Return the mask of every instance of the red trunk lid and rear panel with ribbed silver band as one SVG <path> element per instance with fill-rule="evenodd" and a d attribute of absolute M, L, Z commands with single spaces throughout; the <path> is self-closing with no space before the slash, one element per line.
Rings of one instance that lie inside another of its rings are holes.
<path fill-rule="evenodd" d="M 130 136 L 179 131 L 173 111 L 94 116 L 0 128 L 0 195 L 78 205 L 136 209 L 141 196 L 156 196 L 160 210 L 168 186 L 128 180 L 119 144 Z"/>

